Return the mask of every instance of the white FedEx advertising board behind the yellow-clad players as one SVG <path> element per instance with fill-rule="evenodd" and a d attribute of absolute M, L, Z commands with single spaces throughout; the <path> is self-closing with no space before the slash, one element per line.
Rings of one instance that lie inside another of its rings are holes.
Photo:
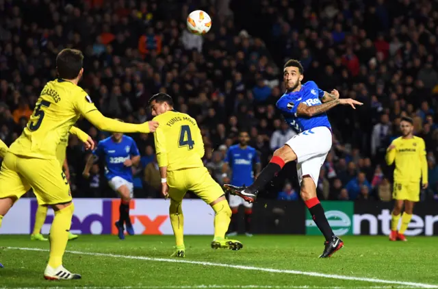
<path fill-rule="evenodd" d="M 118 220 L 120 199 L 75 199 L 75 213 L 70 231 L 73 234 L 116 234 L 114 223 Z M 172 235 L 168 216 L 170 201 L 162 199 L 137 199 L 131 201 L 131 223 L 138 235 Z M 35 199 L 21 199 L 3 219 L 0 234 L 30 234 L 35 224 L 38 204 Z M 184 200 L 184 234 L 212 235 L 214 211 L 201 200 Z M 42 226 L 48 234 L 53 222 L 49 209 Z"/>

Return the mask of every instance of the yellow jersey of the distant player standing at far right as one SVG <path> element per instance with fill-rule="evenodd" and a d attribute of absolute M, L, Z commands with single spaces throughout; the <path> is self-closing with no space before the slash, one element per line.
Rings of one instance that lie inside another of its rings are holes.
<path fill-rule="evenodd" d="M 394 181 L 404 183 L 408 181 L 420 181 L 423 184 L 428 182 L 428 168 L 426 160 L 426 145 L 422 138 L 414 136 L 404 139 L 396 138 L 391 142 L 396 147 L 387 151 L 386 161 L 391 165 L 396 161 L 394 170 Z"/>

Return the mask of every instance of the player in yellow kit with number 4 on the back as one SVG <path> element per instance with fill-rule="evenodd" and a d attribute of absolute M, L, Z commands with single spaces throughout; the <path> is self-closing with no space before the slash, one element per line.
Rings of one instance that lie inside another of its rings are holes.
<path fill-rule="evenodd" d="M 151 97 L 149 105 L 152 115 L 155 116 L 153 119 L 160 123 L 154 134 L 155 150 L 162 176 L 162 194 L 170 198 L 170 223 L 177 242 L 172 256 L 185 257 L 184 216 L 181 206 L 188 190 L 211 205 L 215 212 L 211 248 L 242 249 L 239 241 L 224 238 L 230 223 L 231 209 L 224 191 L 201 160 L 204 156 L 204 143 L 198 124 L 188 114 L 173 110 L 172 97 L 165 93 Z"/>

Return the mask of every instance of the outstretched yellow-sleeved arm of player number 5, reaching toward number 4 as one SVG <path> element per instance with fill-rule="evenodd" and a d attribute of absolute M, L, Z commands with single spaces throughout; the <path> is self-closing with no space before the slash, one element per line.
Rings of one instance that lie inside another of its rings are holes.
<path fill-rule="evenodd" d="M 116 121 L 115 119 L 103 116 L 99 110 L 92 110 L 86 113 L 85 118 L 87 118 L 87 120 L 98 129 L 111 132 L 139 132 L 143 134 L 149 134 L 150 132 L 154 132 L 158 127 L 158 123 L 156 121 L 146 121 L 146 123 L 141 123 L 140 125 L 133 123 L 122 123 L 121 121 Z"/>

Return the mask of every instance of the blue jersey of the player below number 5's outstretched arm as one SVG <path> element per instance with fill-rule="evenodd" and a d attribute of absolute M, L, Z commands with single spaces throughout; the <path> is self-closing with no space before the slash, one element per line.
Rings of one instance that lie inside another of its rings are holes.
<path fill-rule="evenodd" d="M 101 140 L 93 154 L 105 160 L 105 177 L 110 180 L 113 177 L 122 177 L 127 181 L 133 181 L 131 166 L 125 166 L 123 162 L 131 156 L 140 155 L 136 142 L 129 136 L 122 136 L 121 142 L 114 142 L 109 137 Z"/>

